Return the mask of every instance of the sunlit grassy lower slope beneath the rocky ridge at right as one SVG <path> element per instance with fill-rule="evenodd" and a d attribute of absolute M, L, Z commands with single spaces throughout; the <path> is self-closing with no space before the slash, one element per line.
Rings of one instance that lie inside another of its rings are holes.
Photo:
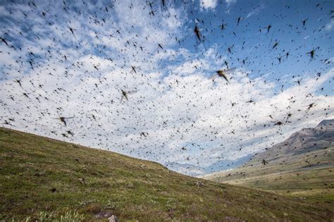
<path fill-rule="evenodd" d="M 207 175 L 220 183 L 252 187 L 322 204 L 334 204 L 334 147 L 280 156 L 264 166 L 250 161 L 240 168 Z"/>

